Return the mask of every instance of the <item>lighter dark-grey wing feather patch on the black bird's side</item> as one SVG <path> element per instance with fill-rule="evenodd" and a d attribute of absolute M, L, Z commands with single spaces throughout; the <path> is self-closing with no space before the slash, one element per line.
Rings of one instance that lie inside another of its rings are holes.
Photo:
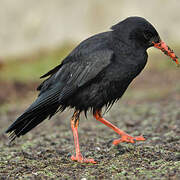
<path fill-rule="evenodd" d="M 88 57 L 83 57 L 85 62 L 72 63 L 69 80 L 61 91 L 59 100 L 66 99 L 76 92 L 78 88 L 94 79 L 111 63 L 112 56 L 113 51 L 101 50 L 94 52 Z"/>

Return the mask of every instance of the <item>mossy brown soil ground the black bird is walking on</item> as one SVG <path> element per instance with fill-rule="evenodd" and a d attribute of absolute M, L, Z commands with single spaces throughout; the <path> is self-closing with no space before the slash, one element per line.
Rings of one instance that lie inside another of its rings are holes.
<path fill-rule="evenodd" d="M 27 100 L 18 96 L 18 102 L 0 107 L 0 179 L 180 179 L 178 76 L 177 70 L 144 72 L 104 115 L 131 135 L 143 134 L 147 139 L 144 142 L 114 146 L 112 140 L 118 135 L 94 120 L 91 113 L 88 119 L 82 114 L 81 151 L 97 164 L 70 159 L 74 153 L 71 110 L 44 121 L 8 145 L 3 132 L 33 99 L 30 91 L 34 87 L 18 86 L 18 94 L 21 90 L 22 94 L 29 94 Z M 9 98 L 12 93 L 8 91 Z"/>

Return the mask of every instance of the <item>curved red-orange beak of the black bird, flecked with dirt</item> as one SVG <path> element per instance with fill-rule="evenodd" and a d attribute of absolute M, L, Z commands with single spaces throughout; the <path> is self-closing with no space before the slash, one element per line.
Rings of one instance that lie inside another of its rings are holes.
<path fill-rule="evenodd" d="M 159 43 L 152 42 L 154 47 L 160 49 L 164 54 L 169 56 L 176 64 L 178 67 L 180 67 L 180 64 L 178 62 L 178 57 L 175 55 L 173 50 L 166 45 L 164 41 L 160 41 Z"/>

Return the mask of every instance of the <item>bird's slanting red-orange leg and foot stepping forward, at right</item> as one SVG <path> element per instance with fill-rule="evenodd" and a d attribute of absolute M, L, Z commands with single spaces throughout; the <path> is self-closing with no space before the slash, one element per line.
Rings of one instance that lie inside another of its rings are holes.
<path fill-rule="evenodd" d="M 121 142 L 135 143 L 135 141 L 145 141 L 146 140 L 143 136 L 132 137 L 129 134 L 125 133 L 124 131 L 120 130 L 119 128 L 117 128 L 116 126 L 111 124 L 109 121 L 105 120 L 101 116 L 100 111 L 96 111 L 96 113 L 94 114 L 94 117 L 101 123 L 105 124 L 106 126 L 110 127 L 111 129 L 113 129 L 116 133 L 118 133 L 121 136 L 120 139 L 116 139 L 113 141 L 114 145 L 117 145 Z"/>

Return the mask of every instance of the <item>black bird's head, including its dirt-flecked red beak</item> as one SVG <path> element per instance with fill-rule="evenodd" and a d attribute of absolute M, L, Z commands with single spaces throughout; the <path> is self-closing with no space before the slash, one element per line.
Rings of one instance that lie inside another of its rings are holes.
<path fill-rule="evenodd" d="M 128 17 L 120 23 L 112 26 L 112 30 L 118 32 L 125 38 L 129 39 L 129 42 L 135 43 L 137 46 L 141 46 L 145 49 L 149 47 L 156 47 L 160 49 L 164 54 L 169 56 L 178 66 L 178 57 L 173 50 L 161 40 L 158 32 L 146 19 L 142 17 Z"/>

